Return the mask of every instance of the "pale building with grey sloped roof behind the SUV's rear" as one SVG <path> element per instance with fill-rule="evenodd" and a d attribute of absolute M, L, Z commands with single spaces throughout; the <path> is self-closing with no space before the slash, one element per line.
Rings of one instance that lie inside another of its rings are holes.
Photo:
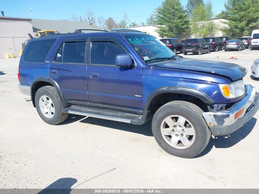
<path fill-rule="evenodd" d="M 0 17 L 0 59 L 6 55 L 19 57 L 21 44 L 29 39 L 28 33 L 38 37 L 39 30 L 57 30 L 59 33 L 74 32 L 76 29 L 100 29 L 96 25 L 79 21 L 41 20 L 18 17 Z"/>

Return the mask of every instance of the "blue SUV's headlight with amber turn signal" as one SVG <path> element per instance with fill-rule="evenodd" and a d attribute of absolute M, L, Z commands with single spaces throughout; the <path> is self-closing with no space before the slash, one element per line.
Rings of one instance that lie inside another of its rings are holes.
<path fill-rule="evenodd" d="M 245 85 L 242 80 L 231 84 L 219 84 L 219 89 L 225 98 L 237 98 L 245 93 Z"/>

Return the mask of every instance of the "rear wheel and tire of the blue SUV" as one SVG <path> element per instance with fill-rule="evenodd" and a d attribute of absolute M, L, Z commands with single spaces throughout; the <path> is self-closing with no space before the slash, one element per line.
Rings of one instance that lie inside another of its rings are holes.
<path fill-rule="evenodd" d="M 45 123 L 57 125 L 67 119 L 68 114 L 61 111 L 61 99 L 58 91 L 53 86 L 44 86 L 37 90 L 35 95 L 35 105 L 40 118 Z M 47 110 L 47 114 L 44 114 L 43 112 L 46 112 Z M 52 112 L 52 110 L 54 112 Z"/>

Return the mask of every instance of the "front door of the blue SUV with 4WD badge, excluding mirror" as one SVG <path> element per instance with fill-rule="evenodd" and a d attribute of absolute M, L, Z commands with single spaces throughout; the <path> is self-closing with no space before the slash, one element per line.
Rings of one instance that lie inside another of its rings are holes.
<path fill-rule="evenodd" d="M 116 55 L 125 53 L 129 54 L 116 38 L 90 36 L 87 66 L 90 104 L 142 111 L 143 66 L 116 66 Z"/>

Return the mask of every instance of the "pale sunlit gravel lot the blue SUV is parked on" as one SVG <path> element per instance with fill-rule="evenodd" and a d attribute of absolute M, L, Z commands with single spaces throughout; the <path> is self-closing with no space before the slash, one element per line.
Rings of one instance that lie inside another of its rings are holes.
<path fill-rule="evenodd" d="M 240 64 L 245 84 L 259 90 L 250 77 L 259 50 L 185 57 Z M 44 123 L 17 87 L 18 63 L 0 59 L 0 188 L 259 188 L 259 112 L 238 131 L 211 137 L 196 158 L 177 158 L 158 146 L 150 122 L 69 115 L 58 126 Z"/>

